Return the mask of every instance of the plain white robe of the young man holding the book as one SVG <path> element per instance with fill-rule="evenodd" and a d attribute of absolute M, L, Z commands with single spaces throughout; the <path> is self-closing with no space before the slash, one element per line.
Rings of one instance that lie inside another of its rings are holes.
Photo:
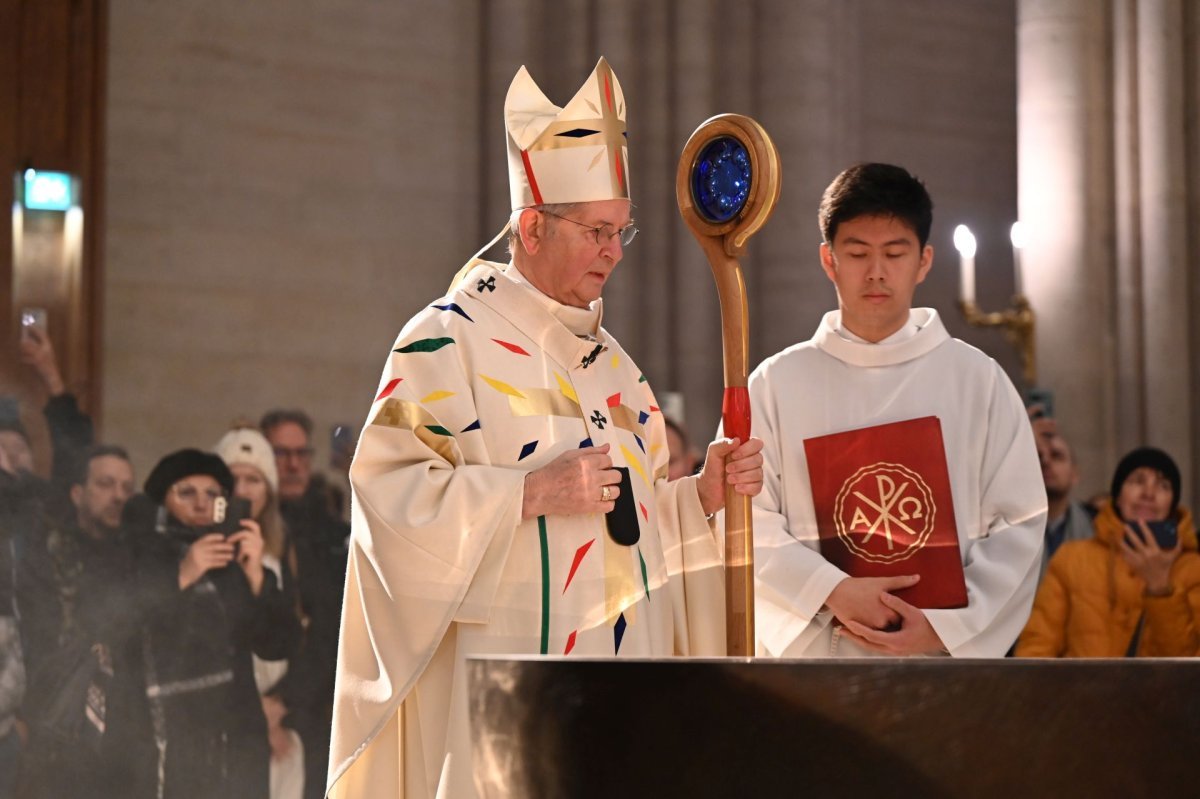
<path fill-rule="evenodd" d="M 808 342 L 750 376 L 763 489 L 754 500 L 757 651 L 872 655 L 840 643 L 826 599 L 846 577 L 820 552 L 804 440 L 937 416 L 946 445 L 967 607 L 925 615 L 950 655 L 1002 657 L 1025 626 L 1040 565 L 1046 497 L 1033 432 L 1000 366 L 913 308 L 880 342 L 853 341 L 834 311 Z"/>

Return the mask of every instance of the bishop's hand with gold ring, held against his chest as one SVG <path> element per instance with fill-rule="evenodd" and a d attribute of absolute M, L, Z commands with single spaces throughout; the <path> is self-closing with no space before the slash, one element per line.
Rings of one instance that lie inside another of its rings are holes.
<path fill-rule="evenodd" d="M 521 518 L 607 513 L 620 494 L 620 473 L 612 468 L 608 444 L 583 446 L 526 475 Z"/>

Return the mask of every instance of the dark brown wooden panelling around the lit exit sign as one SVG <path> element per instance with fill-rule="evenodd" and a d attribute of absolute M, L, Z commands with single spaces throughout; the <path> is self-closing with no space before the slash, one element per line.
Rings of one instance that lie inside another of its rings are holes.
<path fill-rule="evenodd" d="M 41 414 L 47 395 L 17 358 L 22 308 L 47 310 L 67 390 L 94 417 L 102 400 L 107 23 L 106 0 L 0 0 L 0 396 L 18 400 L 40 471 L 49 465 Z M 29 168 L 78 179 L 82 236 L 73 257 L 47 254 L 61 242 L 36 235 L 34 228 L 44 234 L 56 220 L 10 212 L 17 176 Z M 37 239 L 40 264 L 30 247 L 14 263 L 14 222 L 25 239 Z"/>

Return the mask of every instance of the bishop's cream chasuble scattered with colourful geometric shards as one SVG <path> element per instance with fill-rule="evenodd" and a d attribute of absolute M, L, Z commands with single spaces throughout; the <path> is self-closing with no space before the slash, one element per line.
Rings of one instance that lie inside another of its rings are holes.
<path fill-rule="evenodd" d="M 468 655 L 724 654 L 718 541 L 695 479 L 666 480 L 646 378 L 503 270 L 475 266 L 404 326 L 350 467 L 331 797 L 476 794 Z M 528 471 L 605 444 L 636 543 L 604 515 L 521 519 Z"/>

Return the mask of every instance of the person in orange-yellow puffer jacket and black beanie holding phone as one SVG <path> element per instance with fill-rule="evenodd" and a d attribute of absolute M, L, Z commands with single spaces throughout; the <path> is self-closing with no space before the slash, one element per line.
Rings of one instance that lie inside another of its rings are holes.
<path fill-rule="evenodd" d="M 1018 657 L 1178 657 L 1200 654 L 1200 554 L 1180 469 L 1153 447 L 1129 452 L 1096 535 L 1054 558 L 1016 643 Z M 1148 522 L 1171 519 L 1174 546 Z"/>

